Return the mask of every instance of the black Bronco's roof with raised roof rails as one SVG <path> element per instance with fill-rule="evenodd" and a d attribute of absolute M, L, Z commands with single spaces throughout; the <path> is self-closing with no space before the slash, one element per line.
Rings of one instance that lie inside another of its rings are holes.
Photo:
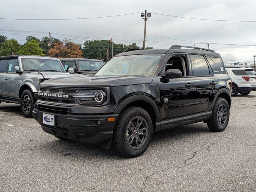
<path fill-rule="evenodd" d="M 182 49 L 182 47 L 186 49 Z M 198 48 L 198 47 L 180 46 L 180 45 L 171 46 L 170 49 L 144 49 L 144 50 L 132 50 L 132 51 L 126 50 L 126 52 L 122 52 L 120 54 L 117 54 L 116 56 L 140 55 L 140 54 L 166 54 L 166 53 L 204 54 L 210 57 L 221 58 L 220 54 L 214 52 L 213 50 L 209 50 L 206 48 Z"/>

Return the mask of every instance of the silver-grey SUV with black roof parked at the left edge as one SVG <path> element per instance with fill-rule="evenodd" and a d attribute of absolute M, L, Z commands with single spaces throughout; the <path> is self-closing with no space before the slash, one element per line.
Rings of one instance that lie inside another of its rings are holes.
<path fill-rule="evenodd" d="M 70 70 L 70 72 L 74 72 Z M 20 104 L 25 117 L 32 117 L 39 83 L 70 76 L 57 58 L 12 55 L 0 57 L 0 102 Z"/>

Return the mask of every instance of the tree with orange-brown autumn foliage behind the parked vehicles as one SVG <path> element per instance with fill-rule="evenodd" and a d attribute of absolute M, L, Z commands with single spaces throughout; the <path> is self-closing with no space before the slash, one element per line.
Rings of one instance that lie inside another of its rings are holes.
<path fill-rule="evenodd" d="M 63 42 L 54 42 L 54 48 L 49 50 L 50 56 L 57 58 L 75 57 L 82 58 L 83 52 L 81 46 L 70 40 L 63 40 Z"/>

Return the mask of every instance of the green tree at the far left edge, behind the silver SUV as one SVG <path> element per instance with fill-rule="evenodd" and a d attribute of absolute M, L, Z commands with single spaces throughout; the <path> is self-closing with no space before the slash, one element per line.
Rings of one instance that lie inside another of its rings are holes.
<path fill-rule="evenodd" d="M 5 40 L 0 47 L 0 55 L 14 55 L 20 50 L 20 44 L 15 39 Z"/>

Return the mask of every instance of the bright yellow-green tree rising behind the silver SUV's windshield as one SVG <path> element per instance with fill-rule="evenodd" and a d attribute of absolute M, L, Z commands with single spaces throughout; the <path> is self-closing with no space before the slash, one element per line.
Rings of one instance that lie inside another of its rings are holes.
<path fill-rule="evenodd" d="M 37 40 L 32 39 L 27 41 L 22 48 L 18 51 L 18 54 L 22 55 L 44 55 L 43 50 L 39 47 L 39 43 Z"/>

